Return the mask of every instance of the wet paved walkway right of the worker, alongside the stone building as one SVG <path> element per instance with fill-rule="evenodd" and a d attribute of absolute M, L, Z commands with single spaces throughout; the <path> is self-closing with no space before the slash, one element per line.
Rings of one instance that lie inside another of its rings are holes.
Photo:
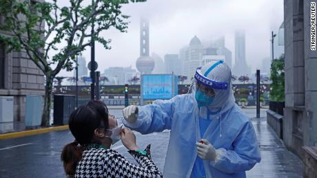
<path fill-rule="evenodd" d="M 287 151 L 283 142 L 276 136 L 267 124 L 266 117 L 252 118 L 262 160 L 252 170 L 247 171 L 247 177 L 252 178 L 295 178 L 302 177 L 303 162 Z"/>

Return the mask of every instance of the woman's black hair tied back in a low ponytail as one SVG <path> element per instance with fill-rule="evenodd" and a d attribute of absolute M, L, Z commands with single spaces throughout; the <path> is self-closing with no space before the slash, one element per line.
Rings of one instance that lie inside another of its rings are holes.
<path fill-rule="evenodd" d="M 85 146 L 91 143 L 100 144 L 98 140 L 94 140 L 94 130 L 108 129 L 108 108 L 99 100 L 81 105 L 72 111 L 68 126 L 75 141 L 64 146 L 61 161 L 66 175 L 74 175 Z"/>

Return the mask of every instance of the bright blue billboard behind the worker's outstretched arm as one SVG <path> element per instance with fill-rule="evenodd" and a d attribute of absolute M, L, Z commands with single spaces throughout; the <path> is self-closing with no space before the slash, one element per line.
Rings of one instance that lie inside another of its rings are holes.
<path fill-rule="evenodd" d="M 172 75 L 143 75 L 143 100 L 170 99 L 177 94 L 177 80 Z M 174 87 L 173 82 L 176 82 Z M 173 92 L 174 91 L 174 92 Z"/>

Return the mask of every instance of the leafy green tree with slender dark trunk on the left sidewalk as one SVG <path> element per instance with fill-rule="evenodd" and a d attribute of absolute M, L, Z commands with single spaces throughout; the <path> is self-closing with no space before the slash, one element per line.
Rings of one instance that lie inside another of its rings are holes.
<path fill-rule="evenodd" d="M 0 34 L 0 41 L 8 45 L 8 52 L 24 49 L 46 77 L 43 126 L 50 120 L 53 78 L 61 69 L 72 70 L 75 56 L 92 41 L 110 49 L 111 40 L 100 33 L 110 27 L 127 32 L 129 16 L 121 14 L 122 5 L 145 0 L 95 0 L 89 5 L 83 0 L 69 1 L 70 6 L 59 7 L 57 0 L 0 0 L 0 16 L 4 17 L 0 30 L 7 32 Z"/>

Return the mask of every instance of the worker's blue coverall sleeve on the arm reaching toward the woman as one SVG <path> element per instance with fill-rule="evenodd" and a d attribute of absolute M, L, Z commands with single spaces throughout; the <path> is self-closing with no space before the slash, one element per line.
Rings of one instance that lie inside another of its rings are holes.
<path fill-rule="evenodd" d="M 174 100 L 155 100 L 153 104 L 139 107 L 139 117 L 133 124 L 124 122 L 127 127 L 142 134 L 171 129 L 174 115 Z"/>

